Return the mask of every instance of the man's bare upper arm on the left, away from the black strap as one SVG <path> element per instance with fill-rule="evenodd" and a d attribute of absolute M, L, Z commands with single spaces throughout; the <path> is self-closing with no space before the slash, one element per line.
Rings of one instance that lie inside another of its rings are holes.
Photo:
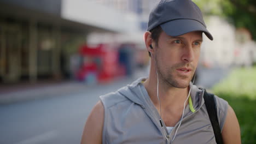
<path fill-rule="evenodd" d="M 94 106 L 94 109 L 92 109 L 85 123 L 81 144 L 102 143 L 103 123 L 104 123 L 104 107 L 101 101 L 98 101 L 97 104 Z"/>

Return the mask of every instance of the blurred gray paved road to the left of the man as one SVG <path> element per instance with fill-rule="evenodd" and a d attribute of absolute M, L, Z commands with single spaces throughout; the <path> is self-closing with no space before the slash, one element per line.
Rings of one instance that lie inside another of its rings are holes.
<path fill-rule="evenodd" d="M 61 97 L 0 105 L 0 143 L 80 143 L 86 118 L 99 100 L 98 96 L 131 81 L 125 79 L 109 85 L 85 87 L 83 92 L 61 93 Z"/>

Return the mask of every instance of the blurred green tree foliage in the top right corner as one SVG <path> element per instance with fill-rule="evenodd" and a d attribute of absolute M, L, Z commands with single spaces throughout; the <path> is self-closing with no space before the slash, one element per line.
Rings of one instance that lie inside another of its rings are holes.
<path fill-rule="evenodd" d="M 228 18 L 235 27 L 245 27 L 256 40 L 255 0 L 194 0 L 205 15 L 219 15 Z"/>

